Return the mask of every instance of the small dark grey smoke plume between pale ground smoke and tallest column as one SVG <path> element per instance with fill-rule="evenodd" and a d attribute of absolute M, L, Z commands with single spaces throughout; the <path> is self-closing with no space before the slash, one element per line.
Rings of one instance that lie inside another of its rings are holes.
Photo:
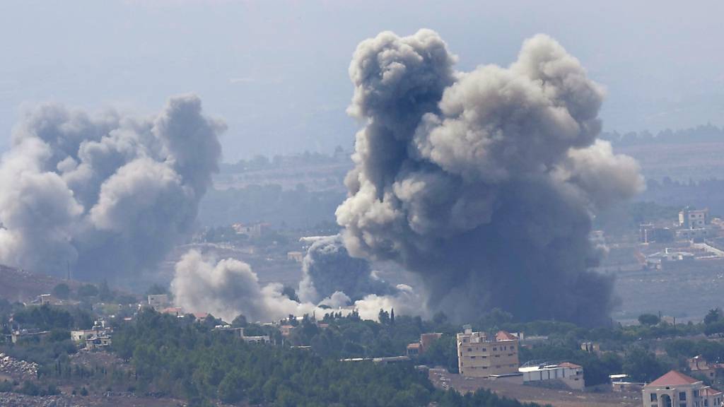
<path fill-rule="evenodd" d="M 353 302 L 369 294 L 396 291 L 371 271 L 368 261 L 350 257 L 340 235 L 325 236 L 312 243 L 304 257 L 302 273 L 299 298 L 312 303 L 334 293 L 344 293 Z"/>

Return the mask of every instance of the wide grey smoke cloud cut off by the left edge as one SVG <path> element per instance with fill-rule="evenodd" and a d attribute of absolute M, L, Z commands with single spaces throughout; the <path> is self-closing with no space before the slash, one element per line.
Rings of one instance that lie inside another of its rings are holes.
<path fill-rule="evenodd" d="M 156 266 L 193 227 L 224 129 L 193 95 L 155 117 L 29 112 L 0 162 L 0 262 L 88 280 Z"/>

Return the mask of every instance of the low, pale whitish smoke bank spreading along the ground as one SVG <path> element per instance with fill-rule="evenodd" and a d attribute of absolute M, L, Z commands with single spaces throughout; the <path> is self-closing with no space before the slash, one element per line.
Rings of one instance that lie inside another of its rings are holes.
<path fill-rule="evenodd" d="M 329 309 L 343 314 L 356 309 L 363 318 L 376 319 L 380 309 L 420 314 L 422 303 L 405 285 L 397 285 L 393 295 L 369 294 L 357 301 L 341 291 L 319 303 L 292 301 L 282 294 L 281 284 L 260 285 L 256 273 L 243 261 L 217 261 L 213 255 L 203 256 L 193 250 L 177 262 L 171 290 L 176 305 L 185 312 L 209 312 L 227 322 L 240 314 L 251 321 L 272 322 L 289 315 L 323 316 Z"/>

